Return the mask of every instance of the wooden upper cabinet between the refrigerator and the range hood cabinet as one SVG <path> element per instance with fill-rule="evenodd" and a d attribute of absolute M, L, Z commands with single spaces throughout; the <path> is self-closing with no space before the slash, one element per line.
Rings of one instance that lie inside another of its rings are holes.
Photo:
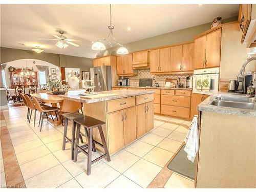
<path fill-rule="evenodd" d="M 118 56 L 116 60 L 117 75 L 133 74 L 133 55 Z"/>

